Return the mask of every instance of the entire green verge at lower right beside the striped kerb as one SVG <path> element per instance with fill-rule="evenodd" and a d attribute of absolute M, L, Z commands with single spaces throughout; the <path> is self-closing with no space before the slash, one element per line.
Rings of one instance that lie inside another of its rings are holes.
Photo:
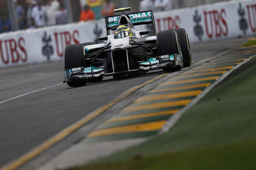
<path fill-rule="evenodd" d="M 256 57 L 206 94 L 169 132 L 78 169 L 255 167 L 255 72 Z"/>

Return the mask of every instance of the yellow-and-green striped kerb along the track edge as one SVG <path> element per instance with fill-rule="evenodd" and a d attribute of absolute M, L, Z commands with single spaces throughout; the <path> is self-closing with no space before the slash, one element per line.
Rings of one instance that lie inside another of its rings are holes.
<path fill-rule="evenodd" d="M 98 126 L 86 136 L 85 141 L 100 142 L 157 134 L 170 117 L 252 55 L 254 49 L 233 51 L 166 80 Z"/>

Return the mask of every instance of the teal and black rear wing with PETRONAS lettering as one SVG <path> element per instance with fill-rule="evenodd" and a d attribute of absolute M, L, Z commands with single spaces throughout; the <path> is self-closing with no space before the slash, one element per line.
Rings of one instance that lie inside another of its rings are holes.
<path fill-rule="evenodd" d="M 130 17 L 133 26 L 152 24 L 154 35 L 156 35 L 155 17 L 152 11 L 142 11 L 126 14 Z M 120 15 L 105 17 L 106 32 L 110 35 L 110 30 L 118 26 Z"/>

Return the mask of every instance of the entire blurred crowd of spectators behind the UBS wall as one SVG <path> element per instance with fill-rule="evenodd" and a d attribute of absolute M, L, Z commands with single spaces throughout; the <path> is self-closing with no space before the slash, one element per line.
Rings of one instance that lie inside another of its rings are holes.
<path fill-rule="evenodd" d="M 25 5 L 13 1 L 20 30 L 68 23 L 68 12 L 63 0 L 26 0 Z M 97 20 L 104 16 L 115 15 L 115 5 L 111 0 L 80 0 L 81 12 L 79 21 Z M 139 3 L 139 1 L 138 1 Z M 126 1 L 127 4 L 127 1 Z M 165 11 L 172 9 L 172 0 L 141 0 L 140 11 Z M 0 16 L 0 33 L 11 31 L 8 14 Z"/>

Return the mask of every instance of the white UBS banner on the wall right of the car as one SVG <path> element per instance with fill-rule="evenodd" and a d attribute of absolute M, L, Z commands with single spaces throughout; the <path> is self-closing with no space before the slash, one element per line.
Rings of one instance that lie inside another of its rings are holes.
<path fill-rule="evenodd" d="M 185 28 L 191 42 L 256 35 L 256 1 L 231 1 L 155 15 L 157 31 Z"/>

